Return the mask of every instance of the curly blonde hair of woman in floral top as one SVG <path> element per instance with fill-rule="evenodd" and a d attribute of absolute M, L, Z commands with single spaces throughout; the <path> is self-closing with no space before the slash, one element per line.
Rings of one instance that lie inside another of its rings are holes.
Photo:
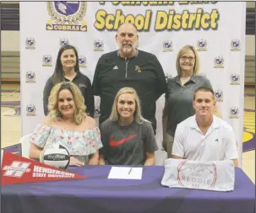
<path fill-rule="evenodd" d="M 74 83 L 71 83 L 71 82 L 57 83 L 52 88 L 52 91 L 49 97 L 49 104 L 48 104 L 49 113 L 48 114 L 50 115 L 53 121 L 57 121 L 62 117 L 62 114 L 58 109 L 58 94 L 63 89 L 68 89 L 74 97 L 74 105 L 75 105 L 74 122 L 75 124 L 80 125 L 83 122 L 84 118 L 86 117 L 86 114 L 85 114 L 86 106 L 84 105 L 84 98 L 82 96 L 82 93 Z"/>

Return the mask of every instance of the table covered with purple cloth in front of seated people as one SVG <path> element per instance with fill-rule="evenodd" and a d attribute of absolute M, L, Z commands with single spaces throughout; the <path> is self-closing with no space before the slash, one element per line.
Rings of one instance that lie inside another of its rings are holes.
<path fill-rule="evenodd" d="M 110 169 L 68 168 L 87 178 L 3 186 L 2 212 L 254 213 L 255 186 L 240 168 L 231 192 L 163 187 L 160 166 L 144 167 L 141 180 L 107 179 Z"/>

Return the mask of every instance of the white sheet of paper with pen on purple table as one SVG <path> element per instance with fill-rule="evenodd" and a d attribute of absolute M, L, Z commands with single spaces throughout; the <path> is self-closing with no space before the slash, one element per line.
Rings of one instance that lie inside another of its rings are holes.
<path fill-rule="evenodd" d="M 130 169 L 132 171 L 129 173 Z M 112 167 L 108 178 L 109 179 L 141 179 L 143 168 L 122 168 Z"/>

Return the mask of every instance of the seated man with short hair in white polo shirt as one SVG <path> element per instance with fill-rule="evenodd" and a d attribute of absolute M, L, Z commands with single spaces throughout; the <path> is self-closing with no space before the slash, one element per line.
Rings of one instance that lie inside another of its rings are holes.
<path fill-rule="evenodd" d="M 237 143 L 231 125 L 216 117 L 215 94 L 198 88 L 193 95 L 195 115 L 177 125 L 172 158 L 192 161 L 232 160 L 238 167 Z"/>

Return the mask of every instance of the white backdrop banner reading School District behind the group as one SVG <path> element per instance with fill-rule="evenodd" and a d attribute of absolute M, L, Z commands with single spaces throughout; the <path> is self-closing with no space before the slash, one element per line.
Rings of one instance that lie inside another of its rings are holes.
<path fill-rule="evenodd" d="M 228 8 L 228 9 L 226 9 Z M 115 34 L 123 22 L 139 29 L 139 49 L 158 57 L 167 77 L 175 77 L 183 45 L 199 51 L 200 73 L 210 79 L 223 119 L 235 130 L 242 157 L 246 3 L 228 2 L 36 2 L 20 3 L 22 135 L 44 117 L 43 88 L 54 71 L 61 45 L 74 45 L 81 72 L 92 78 L 99 57 L 117 49 Z M 125 86 L 125 85 L 123 85 Z M 95 97 L 95 117 L 100 114 Z M 161 112 L 157 101 L 156 139 L 161 148 Z M 156 152 L 162 165 L 166 152 Z"/>

